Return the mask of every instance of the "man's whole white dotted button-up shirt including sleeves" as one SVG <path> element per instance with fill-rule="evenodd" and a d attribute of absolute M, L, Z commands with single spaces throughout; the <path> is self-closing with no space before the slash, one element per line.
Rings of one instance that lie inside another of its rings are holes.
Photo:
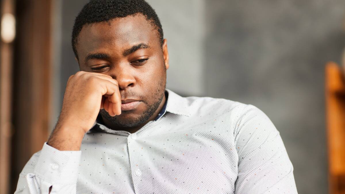
<path fill-rule="evenodd" d="M 42 182 L 54 193 L 297 193 L 283 141 L 261 110 L 167 92 L 165 113 L 136 133 L 95 123 L 81 151 L 43 146 L 16 193 L 45 193 Z M 61 172 L 43 173 L 54 168 Z"/>

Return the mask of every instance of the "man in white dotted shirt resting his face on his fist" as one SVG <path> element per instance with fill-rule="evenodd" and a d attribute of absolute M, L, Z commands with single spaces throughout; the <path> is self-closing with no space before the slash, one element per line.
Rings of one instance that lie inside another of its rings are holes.
<path fill-rule="evenodd" d="M 89 2 L 72 47 L 81 71 L 16 193 L 297 193 L 262 111 L 165 89 L 167 40 L 144 0 Z"/>

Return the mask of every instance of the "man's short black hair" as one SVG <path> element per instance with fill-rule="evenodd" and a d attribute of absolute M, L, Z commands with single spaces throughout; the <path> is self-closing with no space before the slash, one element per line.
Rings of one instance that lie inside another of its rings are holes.
<path fill-rule="evenodd" d="M 72 48 L 78 59 L 77 39 L 82 27 L 96 22 L 107 22 L 115 18 L 143 14 L 152 26 L 158 31 L 163 44 L 163 29 L 155 10 L 145 0 L 91 0 L 79 12 L 72 30 Z"/>

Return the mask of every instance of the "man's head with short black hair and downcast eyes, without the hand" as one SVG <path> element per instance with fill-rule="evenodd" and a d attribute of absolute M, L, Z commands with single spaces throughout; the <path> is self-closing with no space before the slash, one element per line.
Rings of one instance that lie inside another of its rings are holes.
<path fill-rule="evenodd" d="M 155 11 L 144 0 L 91 0 L 78 14 L 72 47 L 80 70 L 116 79 L 121 99 L 141 101 L 111 117 L 114 126 L 145 123 L 162 103 L 169 67 L 167 41 Z"/>

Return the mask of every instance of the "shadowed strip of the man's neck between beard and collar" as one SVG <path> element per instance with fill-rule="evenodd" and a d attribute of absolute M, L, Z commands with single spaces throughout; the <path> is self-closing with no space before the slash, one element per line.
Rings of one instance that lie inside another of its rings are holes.
<path fill-rule="evenodd" d="M 162 101 L 160 102 L 157 110 L 155 111 L 154 114 L 151 115 L 151 117 L 149 119 L 147 119 L 147 121 L 145 123 L 142 123 L 138 126 L 135 126 L 135 127 L 119 127 L 119 126 L 114 126 L 114 124 L 112 124 L 109 120 L 105 119 L 104 117 L 102 117 L 102 120 L 103 120 L 103 123 L 106 127 L 110 128 L 110 129 L 116 129 L 116 130 L 124 130 L 124 131 L 127 131 L 129 133 L 135 133 L 137 132 L 141 127 L 145 126 L 148 122 L 150 122 L 151 120 L 154 120 L 160 110 L 163 108 L 164 104 L 165 104 L 165 101 L 166 101 L 166 97 L 165 95 L 163 96 L 163 99 Z"/>

